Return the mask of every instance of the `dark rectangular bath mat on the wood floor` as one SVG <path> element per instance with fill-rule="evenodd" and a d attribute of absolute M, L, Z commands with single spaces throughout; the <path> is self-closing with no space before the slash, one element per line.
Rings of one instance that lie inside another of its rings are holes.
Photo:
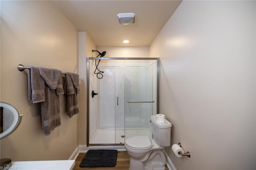
<path fill-rule="evenodd" d="M 114 167 L 116 166 L 117 150 L 88 150 L 80 163 L 85 167 Z"/>

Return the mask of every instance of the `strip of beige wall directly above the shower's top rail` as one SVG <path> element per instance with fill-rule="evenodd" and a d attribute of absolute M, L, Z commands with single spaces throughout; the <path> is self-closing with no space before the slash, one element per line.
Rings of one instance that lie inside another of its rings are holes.
<path fill-rule="evenodd" d="M 98 51 L 106 51 L 104 57 L 148 57 L 149 47 L 98 47 Z M 97 55 L 96 55 L 97 56 Z"/>

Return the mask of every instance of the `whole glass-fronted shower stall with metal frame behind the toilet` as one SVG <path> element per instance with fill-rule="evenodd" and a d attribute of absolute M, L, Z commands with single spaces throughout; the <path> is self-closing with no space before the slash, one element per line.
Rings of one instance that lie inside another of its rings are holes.
<path fill-rule="evenodd" d="M 159 58 L 87 58 L 87 146 L 152 138 L 159 113 Z"/>

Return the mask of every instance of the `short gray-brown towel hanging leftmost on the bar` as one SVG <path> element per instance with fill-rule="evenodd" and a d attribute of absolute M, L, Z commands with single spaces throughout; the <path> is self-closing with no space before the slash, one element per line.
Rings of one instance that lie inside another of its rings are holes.
<path fill-rule="evenodd" d="M 45 100 L 44 80 L 40 76 L 39 67 L 30 66 L 28 69 L 28 100 L 32 103 Z"/>

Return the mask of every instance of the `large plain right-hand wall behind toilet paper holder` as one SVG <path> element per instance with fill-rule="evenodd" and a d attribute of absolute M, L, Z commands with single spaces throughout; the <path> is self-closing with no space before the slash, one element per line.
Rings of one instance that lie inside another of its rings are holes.
<path fill-rule="evenodd" d="M 256 169 L 255 1 L 183 1 L 150 46 L 160 55 L 165 150 L 177 170 Z"/>

